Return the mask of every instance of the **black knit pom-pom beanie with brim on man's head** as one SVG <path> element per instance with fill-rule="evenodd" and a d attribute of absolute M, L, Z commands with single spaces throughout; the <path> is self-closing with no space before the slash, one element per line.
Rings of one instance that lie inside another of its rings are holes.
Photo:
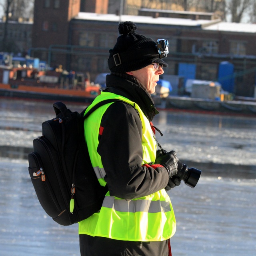
<path fill-rule="evenodd" d="M 126 73 L 144 68 L 153 62 L 164 67 L 168 65 L 161 60 L 156 42 L 151 38 L 135 33 L 136 24 L 131 21 L 120 22 L 116 45 L 109 50 L 108 67 L 111 72 Z"/>

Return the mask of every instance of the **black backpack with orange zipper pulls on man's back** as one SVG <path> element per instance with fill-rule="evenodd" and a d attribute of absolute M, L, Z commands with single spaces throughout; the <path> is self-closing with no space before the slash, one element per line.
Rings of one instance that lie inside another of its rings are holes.
<path fill-rule="evenodd" d="M 28 171 L 45 212 L 60 225 L 84 220 L 100 210 L 108 187 L 100 186 L 84 139 L 84 119 L 109 102 L 96 104 L 86 115 L 53 104 L 56 118 L 42 123 L 42 136 L 33 140 Z M 123 101 L 122 101 L 123 102 Z"/>

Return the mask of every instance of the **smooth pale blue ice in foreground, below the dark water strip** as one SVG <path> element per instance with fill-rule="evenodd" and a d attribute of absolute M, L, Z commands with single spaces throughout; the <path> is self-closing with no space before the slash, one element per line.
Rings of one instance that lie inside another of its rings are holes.
<path fill-rule="evenodd" d="M 56 224 L 40 206 L 25 160 L 0 168 L 0 255 L 78 256 L 76 224 Z M 195 188 L 170 190 L 176 256 L 252 256 L 256 252 L 256 180 L 202 176 Z"/>

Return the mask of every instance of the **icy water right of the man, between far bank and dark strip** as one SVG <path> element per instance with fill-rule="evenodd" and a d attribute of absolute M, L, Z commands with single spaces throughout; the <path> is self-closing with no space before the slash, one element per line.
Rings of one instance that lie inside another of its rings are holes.
<path fill-rule="evenodd" d="M 159 143 L 179 158 L 256 165 L 256 118 L 162 111 L 154 124 L 164 134 Z"/>

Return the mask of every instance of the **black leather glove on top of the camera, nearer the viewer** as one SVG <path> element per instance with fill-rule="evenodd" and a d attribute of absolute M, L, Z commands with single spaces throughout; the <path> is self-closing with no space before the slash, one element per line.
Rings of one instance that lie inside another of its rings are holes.
<path fill-rule="evenodd" d="M 166 152 L 165 150 L 157 150 L 155 164 L 161 164 L 166 168 L 169 178 L 178 172 L 178 158 L 175 151 Z"/>

